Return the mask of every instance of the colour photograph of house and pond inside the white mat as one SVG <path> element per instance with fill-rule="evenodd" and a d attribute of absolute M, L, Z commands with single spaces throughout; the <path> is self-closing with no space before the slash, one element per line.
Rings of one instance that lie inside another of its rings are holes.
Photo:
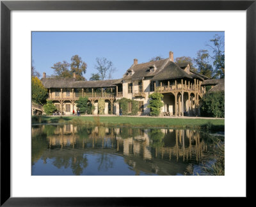
<path fill-rule="evenodd" d="M 225 176 L 225 31 L 31 31 L 31 176 Z"/>

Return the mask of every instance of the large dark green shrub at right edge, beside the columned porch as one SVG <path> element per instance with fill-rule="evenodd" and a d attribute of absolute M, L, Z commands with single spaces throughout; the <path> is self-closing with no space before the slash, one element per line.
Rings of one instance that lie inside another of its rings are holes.
<path fill-rule="evenodd" d="M 225 93 L 206 93 L 200 101 L 201 116 L 225 117 Z"/>

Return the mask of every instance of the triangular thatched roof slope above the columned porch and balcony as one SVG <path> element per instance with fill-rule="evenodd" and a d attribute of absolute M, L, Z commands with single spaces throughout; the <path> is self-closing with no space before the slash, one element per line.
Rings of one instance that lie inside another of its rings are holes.
<path fill-rule="evenodd" d="M 191 75 L 184 72 L 177 64 L 170 61 L 166 66 L 164 66 L 163 70 L 158 72 L 152 80 L 167 80 L 167 79 L 182 79 L 188 78 L 192 79 Z"/>

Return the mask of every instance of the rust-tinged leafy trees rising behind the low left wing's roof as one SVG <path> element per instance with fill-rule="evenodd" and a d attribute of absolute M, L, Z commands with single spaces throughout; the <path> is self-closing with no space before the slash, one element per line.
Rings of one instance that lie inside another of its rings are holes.
<path fill-rule="evenodd" d="M 67 61 L 54 63 L 51 67 L 54 70 L 54 77 L 73 77 L 76 73 L 77 81 L 85 80 L 83 74 L 86 73 L 86 63 L 78 55 L 71 57 L 71 63 Z"/>

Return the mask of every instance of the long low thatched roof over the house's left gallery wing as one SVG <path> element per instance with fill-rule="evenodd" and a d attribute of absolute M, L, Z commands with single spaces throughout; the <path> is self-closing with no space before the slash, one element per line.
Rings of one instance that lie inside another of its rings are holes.
<path fill-rule="evenodd" d="M 122 83 L 122 79 L 106 81 L 76 81 L 74 78 L 42 78 L 45 88 L 104 88 Z"/>

